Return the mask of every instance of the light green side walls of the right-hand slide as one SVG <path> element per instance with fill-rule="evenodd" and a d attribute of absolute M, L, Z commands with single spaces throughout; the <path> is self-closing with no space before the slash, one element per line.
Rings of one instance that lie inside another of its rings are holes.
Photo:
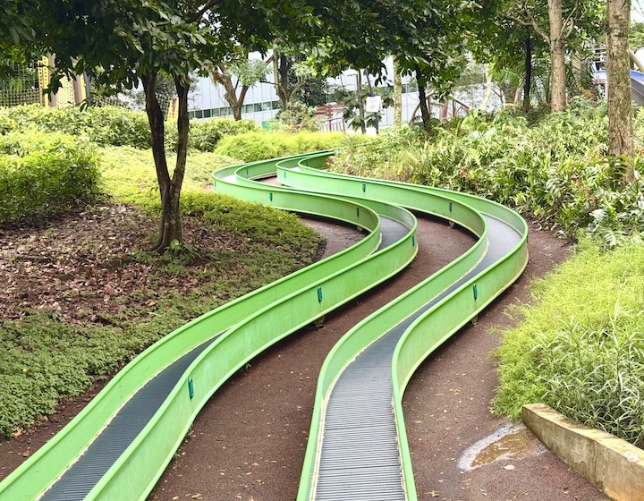
<path fill-rule="evenodd" d="M 303 162 L 306 162 L 304 160 Z M 405 207 L 415 208 L 434 215 L 447 217 L 465 227 L 470 227 L 468 220 L 461 220 L 454 214 L 453 204 L 445 215 L 445 207 L 431 207 L 427 195 L 440 195 L 453 202 L 458 202 L 467 207 L 476 208 L 477 212 L 499 218 L 505 224 L 512 226 L 521 236 L 521 240 L 513 249 L 498 259 L 492 266 L 487 267 L 478 276 L 462 284 L 453 293 L 448 294 L 443 300 L 425 312 L 407 329 L 394 352 L 392 371 L 394 381 L 394 414 L 396 429 L 399 437 L 402 481 L 407 499 L 417 499 L 413 471 L 411 468 L 411 454 L 406 439 L 404 419 L 402 416 L 402 393 L 413 371 L 427 356 L 445 342 L 453 333 L 458 331 L 480 310 L 504 291 L 513 281 L 521 275 L 527 264 L 527 236 L 528 228 L 525 221 L 510 208 L 505 208 L 496 202 L 480 199 L 464 193 L 438 190 L 428 187 L 419 187 L 406 183 L 388 183 L 358 178 L 346 174 L 333 174 L 320 172 L 301 165 L 299 169 L 284 168 L 279 171 L 283 183 L 292 183 L 298 188 L 310 188 L 319 185 L 320 178 L 335 179 L 332 185 L 335 193 L 352 193 L 359 196 L 372 196 L 378 200 L 390 200 L 401 203 Z M 369 193 L 369 195 L 368 195 Z M 426 194 L 425 197 L 421 193 Z M 477 232 L 474 232 L 475 234 Z M 439 290 L 444 290 L 453 284 L 458 277 L 470 269 L 477 259 L 482 256 L 486 238 L 480 234 L 479 242 L 461 258 L 456 259 L 439 270 L 434 276 L 392 301 L 386 307 L 373 313 L 359 325 L 353 327 L 329 353 L 318 379 L 318 391 L 311 429 L 309 431 L 309 445 L 302 468 L 300 491 L 298 500 L 310 499 L 313 491 L 313 482 L 316 476 L 316 462 L 318 459 L 320 421 L 324 410 L 325 399 L 333 386 L 335 379 L 343 368 L 352 361 L 361 350 L 372 343 L 379 335 L 384 334 L 388 328 L 393 327 L 403 318 L 411 315 L 423 304 L 428 303 L 431 297 Z"/>

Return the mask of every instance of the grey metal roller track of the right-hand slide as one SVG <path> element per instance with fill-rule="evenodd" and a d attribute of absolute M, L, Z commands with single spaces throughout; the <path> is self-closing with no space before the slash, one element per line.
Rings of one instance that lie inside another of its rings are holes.
<path fill-rule="evenodd" d="M 314 499 L 403 501 L 402 466 L 392 405 L 391 363 L 400 337 L 425 311 L 494 264 L 521 240 L 486 216 L 487 252 L 479 264 L 420 310 L 370 344 L 335 382 L 326 402 Z"/>

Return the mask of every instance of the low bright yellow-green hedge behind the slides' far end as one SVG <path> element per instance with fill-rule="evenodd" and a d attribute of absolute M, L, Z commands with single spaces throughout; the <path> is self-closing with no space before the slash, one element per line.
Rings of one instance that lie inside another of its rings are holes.
<path fill-rule="evenodd" d="M 335 132 L 246 132 L 219 142 L 215 153 L 256 162 L 340 146 L 343 134 Z"/>

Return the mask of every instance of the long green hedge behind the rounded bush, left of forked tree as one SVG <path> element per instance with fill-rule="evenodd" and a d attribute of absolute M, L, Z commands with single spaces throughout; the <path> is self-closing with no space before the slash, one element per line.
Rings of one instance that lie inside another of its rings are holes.
<path fill-rule="evenodd" d="M 40 105 L 0 108 L 0 133 L 38 129 L 87 136 L 98 145 L 150 146 L 148 117 L 121 106 L 58 109 Z"/>

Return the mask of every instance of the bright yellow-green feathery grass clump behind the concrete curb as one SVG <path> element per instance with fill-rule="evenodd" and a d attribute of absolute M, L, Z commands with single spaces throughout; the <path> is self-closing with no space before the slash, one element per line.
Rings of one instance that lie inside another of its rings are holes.
<path fill-rule="evenodd" d="M 533 295 L 499 350 L 495 412 L 544 402 L 644 446 L 644 246 L 584 242 Z"/>

